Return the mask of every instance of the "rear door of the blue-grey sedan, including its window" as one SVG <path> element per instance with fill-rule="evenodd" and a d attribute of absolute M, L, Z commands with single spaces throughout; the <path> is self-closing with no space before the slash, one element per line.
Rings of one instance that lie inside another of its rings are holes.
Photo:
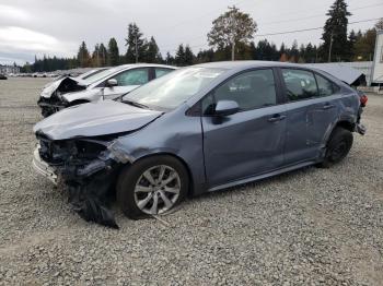
<path fill-rule="evenodd" d="M 323 76 L 304 69 L 280 71 L 288 100 L 285 165 L 314 159 L 320 155 L 321 139 L 335 120 L 336 105 L 325 96 Z"/>

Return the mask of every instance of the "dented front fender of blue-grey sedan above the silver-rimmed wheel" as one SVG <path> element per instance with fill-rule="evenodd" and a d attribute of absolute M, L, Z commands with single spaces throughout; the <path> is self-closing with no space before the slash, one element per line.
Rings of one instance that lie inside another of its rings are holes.
<path fill-rule="evenodd" d="M 108 150 L 123 164 L 132 164 L 153 155 L 175 156 L 193 170 L 190 181 L 194 193 L 204 192 L 206 174 L 200 118 L 189 117 L 189 120 L 179 122 L 173 117 L 177 117 L 173 112 L 184 114 L 187 108 L 165 114 L 137 132 L 116 139 Z"/>

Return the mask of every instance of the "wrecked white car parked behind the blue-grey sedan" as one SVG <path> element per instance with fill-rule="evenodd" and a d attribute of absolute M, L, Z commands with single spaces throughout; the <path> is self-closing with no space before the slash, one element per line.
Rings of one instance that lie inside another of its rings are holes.
<path fill-rule="evenodd" d="M 124 64 L 86 79 L 63 78 L 46 86 L 37 102 L 48 117 L 66 107 L 103 99 L 115 99 L 177 68 L 164 64 Z"/>

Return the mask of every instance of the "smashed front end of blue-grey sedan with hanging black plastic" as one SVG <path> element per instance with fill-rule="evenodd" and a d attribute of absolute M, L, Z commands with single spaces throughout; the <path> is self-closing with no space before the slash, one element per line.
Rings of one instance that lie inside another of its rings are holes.
<path fill-rule="evenodd" d="M 113 151 L 111 138 L 50 140 L 37 133 L 39 145 L 33 166 L 68 191 L 71 207 L 86 222 L 118 228 L 108 203 L 113 199 L 119 168 L 126 157 Z"/>

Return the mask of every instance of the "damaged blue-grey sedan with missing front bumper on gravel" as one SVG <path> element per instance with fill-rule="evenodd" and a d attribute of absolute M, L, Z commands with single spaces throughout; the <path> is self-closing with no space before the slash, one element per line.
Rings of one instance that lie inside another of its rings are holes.
<path fill-rule="evenodd" d="M 363 99 L 364 100 L 364 99 Z M 34 127 L 33 165 L 62 181 L 86 221 L 117 227 L 162 215 L 186 195 L 346 157 L 359 95 L 321 71 L 277 62 L 184 68 L 119 98 L 61 110 Z"/>

